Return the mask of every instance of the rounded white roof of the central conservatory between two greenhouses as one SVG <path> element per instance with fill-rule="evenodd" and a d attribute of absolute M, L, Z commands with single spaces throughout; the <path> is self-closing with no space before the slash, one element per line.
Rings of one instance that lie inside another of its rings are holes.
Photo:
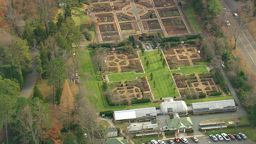
<path fill-rule="evenodd" d="M 186 102 L 183 100 L 162 102 L 160 104 L 161 112 L 168 113 L 168 108 L 172 108 L 172 112 L 184 112 L 188 110 Z"/>

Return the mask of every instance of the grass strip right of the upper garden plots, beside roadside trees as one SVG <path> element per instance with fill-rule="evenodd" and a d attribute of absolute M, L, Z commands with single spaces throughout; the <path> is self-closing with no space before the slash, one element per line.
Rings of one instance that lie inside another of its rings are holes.
<path fill-rule="evenodd" d="M 188 19 L 188 22 L 190 23 L 191 28 L 193 29 L 194 32 L 199 32 L 202 33 L 203 30 L 200 27 L 199 22 L 196 20 L 194 16 L 194 10 L 192 7 L 188 7 L 184 9 L 184 12 L 186 14 L 186 17 Z"/>

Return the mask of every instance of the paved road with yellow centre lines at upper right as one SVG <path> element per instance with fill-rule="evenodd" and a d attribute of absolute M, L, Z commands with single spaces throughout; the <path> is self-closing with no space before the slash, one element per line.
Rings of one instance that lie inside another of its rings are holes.
<path fill-rule="evenodd" d="M 229 12 L 230 16 L 233 13 L 237 13 L 236 9 L 242 6 L 240 2 L 235 0 L 222 0 L 222 5 L 224 8 L 227 8 L 225 11 Z M 238 18 L 238 24 L 240 24 L 240 20 L 241 19 Z M 256 42 L 245 27 L 242 28 L 242 32 L 243 34 L 241 34 L 237 40 L 237 46 L 252 69 L 252 72 L 256 75 Z"/>

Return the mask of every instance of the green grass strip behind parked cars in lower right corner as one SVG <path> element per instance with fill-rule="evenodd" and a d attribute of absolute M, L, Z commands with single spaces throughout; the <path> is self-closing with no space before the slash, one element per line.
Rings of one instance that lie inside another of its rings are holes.
<path fill-rule="evenodd" d="M 222 129 L 222 132 L 225 132 L 226 134 L 235 134 L 235 133 L 239 133 L 239 132 L 243 132 L 248 139 L 252 140 L 252 142 L 256 142 L 255 138 L 256 138 L 256 130 L 254 128 L 237 128 L 237 132 L 235 132 L 234 128 L 225 128 Z M 220 129 L 217 130 L 206 130 L 206 132 L 208 132 L 208 134 L 206 135 L 210 135 L 210 134 L 220 134 Z M 202 134 L 205 134 L 204 131 L 201 131 Z"/>

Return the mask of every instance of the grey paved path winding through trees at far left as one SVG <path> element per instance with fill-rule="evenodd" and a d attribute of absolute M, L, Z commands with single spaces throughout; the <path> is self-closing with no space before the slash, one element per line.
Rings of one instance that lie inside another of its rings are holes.
<path fill-rule="evenodd" d="M 19 97 L 24 97 L 24 98 L 30 97 L 32 90 L 36 84 L 36 79 L 38 76 L 38 72 L 36 71 L 36 64 L 34 64 L 35 56 L 38 55 L 38 50 L 37 49 L 30 50 L 30 54 L 32 56 L 32 66 L 33 66 L 32 68 L 30 68 L 30 70 L 32 70 L 32 74 L 29 74 L 27 76 L 25 84 L 21 88 L 20 95 L 19 95 Z"/>

